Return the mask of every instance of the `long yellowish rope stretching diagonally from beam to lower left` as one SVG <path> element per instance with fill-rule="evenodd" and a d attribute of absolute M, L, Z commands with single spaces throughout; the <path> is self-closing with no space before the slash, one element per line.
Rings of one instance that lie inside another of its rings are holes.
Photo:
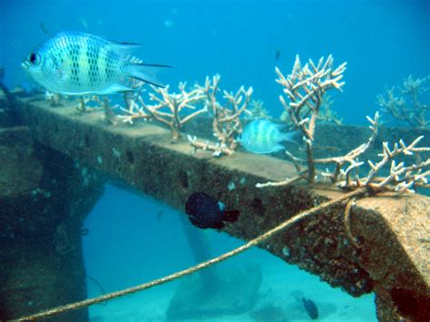
<path fill-rule="evenodd" d="M 208 267 L 210 267 L 216 263 L 219 263 L 220 261 L 223 261 L 225 259 L 230 259 L 231 257 L 238 255 L 239 253 L 241 253 L 247 249 L 250 249 L 253 246 L 258 245 L 260 242 L 262 242 L 266 239 L 269 239 L 272 235 L 274 235 L 277 232 L 279 232 L 280 230 L 285 229 L 288 226 L 296 223 L 298 220 L 302 220 L 303 218 L 308 217 L 309 215 L 312 215 L 312 214 L 314 214 L 320 210 L 327 209 L 328 207 L 336 205 L 337 203 L 340 203 L 344 200 L 348 200 L 352 197 L 357 197 L 358 195 L 363 194 L 365 191 L 366 191 L 365 188 L 354 190 L 354 191 L 348 192 L 348 193 L 340 196 L 337 199 L 329 200 L 329 201 L 326 201 L 324 203 L 321 203 L 317 207 L 314 207 L 310 210 L 305 210 L 305 211 L 299 212 L 296 216 L 290 218 L 289 220 L 285 220 L 284 222 L 279 224 L 279 226 L 275 227 L 274 229 L 270 229 L 269 231 L 267 231 L 263 235 L 260 235 L 259 237 L 255 238 L 255 239 L 249 240 L 249 242 L 246 243 L 245 245 L 242 245 L 237 249 L 233 249 L 233 250 L 229 251 L 228 253 L 222 254 L 221 256 L 219 256 L 215 259 L 210 259 L 210 260 L 204 261 L 204 262 L 202 262 L 196 266 L 193 266 L 192 268 L 187 268 L 187 269 L 181 270 L 180 272 L 171 274 L 167 277 L 155 279 L 155 280 L 152 280 L 151 282 L 144 283 L 144 284 L 138 285 L 138 286 L 133 287 L 133 288 L 126 288 L 126 289 L 123 289 L 121 291 L 105 294 L 105 295 L 98 297 L 98 298 L 89 298 L 89 299 L 85 299 L 85 300 L 80 301 L 80 302 L 67 304 L 67 305 L 64 305 L 61 307 L 54 307 L 54 308 L 48 309 L 44 312 L 37 313 L 37 314 L 31 315 L 28 317 L 21 317 L 15 321 L 28 321 L 28 320 L 34 320 L 37 318 L 52 317 L 52 316 L 60 314 L 60 313 L 72 311 L 72 310 L 82 308 L 82 307 L 89 307 L 93 304 L 107 301 L 107 300 L 110 300 L 112 298 L 119 298 L 119 297 L 122 297 L 122 296 L 127 295 L 127 294 L 132 294 L 132 293 L 135 293 L 135 292 L 143 290 L 143 289 L 152 288 L 156 285 L 170 282 L 171 280 L 176 279 L 176 278 L 181 278 L 183 276 L 190 275 L 190 274 L 192 274 L 192 273 L 194 273 L 200 269 L 208 268 Z"/>

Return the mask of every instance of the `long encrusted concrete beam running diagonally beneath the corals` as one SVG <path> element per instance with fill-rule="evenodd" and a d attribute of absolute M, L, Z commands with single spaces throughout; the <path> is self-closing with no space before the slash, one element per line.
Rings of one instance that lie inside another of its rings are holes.
<path fill-rule="evenodd" d="M 239 221 L 223 229 L 240 239 L 257 237 L 341 194 L 306 183 L 257 189 L 257 182 L 294 176 L 294 168 L 250 153 L 220 159 L 193 154 L 188 141 L 172 142 L 170 131 L 152 123 L 112 126 L 102 112 L 80 114 L 72 103 L 53 108 L 44 100 L 23 100 L 21 110 L 35 140 L 178 210 L 193 191 L 240 210 Z M 358 200 L 350 220 L 359 247 L 347 238 L 344 208 L 338 205 L 303 220 L 261 247 L 352 296 L 375 291 L 381 319 L 427 317 L 430 199 L 386 194 Z"/>

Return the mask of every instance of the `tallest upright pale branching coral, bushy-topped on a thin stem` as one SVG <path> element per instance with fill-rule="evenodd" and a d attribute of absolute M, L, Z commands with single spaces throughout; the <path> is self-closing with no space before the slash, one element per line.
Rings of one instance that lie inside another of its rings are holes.
<path fill-rule="evenodd" d="M 288 112 L 291 122 L 303 133 L 308 156 L 308 181 L 315 181 L 315 163 L 312 150 L 315 126 L 320 112 L 324 94 L 330 89 L 340 90 L 345 84 L 340 82 L 346 70 L 347 63 L 333 66 L 333 57 L 329 55 L 325 60 L 321 57 L 317 64 L 309 60 L 303 67 L 298 55 L 292 72 L 285 77 L 276 68 L 279 78 L 277 83 L 284 86 L 283 96 L 279 100 Z"/>

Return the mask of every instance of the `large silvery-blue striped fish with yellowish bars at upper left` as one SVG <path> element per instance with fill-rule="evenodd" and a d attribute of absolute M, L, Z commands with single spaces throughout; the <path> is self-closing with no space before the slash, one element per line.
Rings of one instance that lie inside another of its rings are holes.
<path fill-rule="evenodd" d="M 68 95 L 132 91 L 128 78 L 162 86 L 151 73 L 161 64 L 132 63 L 130 51 L 139 44 L 117 43 L 93 34 L 55 34 L 22 63 L 48 91 Z"/>

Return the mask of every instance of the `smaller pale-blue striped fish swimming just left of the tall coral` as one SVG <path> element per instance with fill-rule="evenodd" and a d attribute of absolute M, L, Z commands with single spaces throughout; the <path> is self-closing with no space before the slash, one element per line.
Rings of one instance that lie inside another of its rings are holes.
<path fill-rule="evenodd" d="M 298 143 L 298 132 L 280 132 L 280 124 L 268 120 L 250 122 L 239 135 L 238 141 L 247 151 L 253 153 L 271 153 L 285 149 L 282 141 Z"/>

